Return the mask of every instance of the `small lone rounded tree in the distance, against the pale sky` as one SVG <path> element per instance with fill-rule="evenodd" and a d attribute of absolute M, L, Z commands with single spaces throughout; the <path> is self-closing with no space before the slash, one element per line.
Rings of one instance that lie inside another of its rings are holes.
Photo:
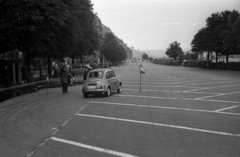
<path fill-rule="evenodd" d="M 180 47 L 180 43 L 174 41 L 166 50 L 165 53 L 167 56 L 172 57 L 174 60 L 177 60 L 181 54 L 183 54 L 182 48 Z"/>

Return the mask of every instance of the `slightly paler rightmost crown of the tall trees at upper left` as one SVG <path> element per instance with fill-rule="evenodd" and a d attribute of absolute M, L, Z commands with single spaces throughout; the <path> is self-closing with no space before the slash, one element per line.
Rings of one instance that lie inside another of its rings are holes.
<path fill-rule="evenodd" d="M 62 28 L 61 50 L 67 56 L 78 57 L 93 54 L 99 49 L 100 36 L 96 29 L 91 1 L 62 0 L 69 8 L 70 15 L 66 20 L 66 27 Z M 63 44 L 64 43 L 64 44 Z"/>

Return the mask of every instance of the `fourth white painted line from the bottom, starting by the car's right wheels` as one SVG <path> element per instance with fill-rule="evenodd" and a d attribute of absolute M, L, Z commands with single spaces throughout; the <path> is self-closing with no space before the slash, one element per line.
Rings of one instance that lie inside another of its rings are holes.
<path fill-rule="evenodd" d="M 138 95 L 114 95 L 120 97 L 134 97 L 134 98 L 148 98 L 148 99 L 172 99 L 172 100 L 189 100 L 189 101 L 209 101 L 209 102 L 221 102 L 221 103 L 233 103 L 239 104 L 238 101 L 224 101 L 224 100 L 210 100 L 210 99 L 191 99 L 191 98 L 173 98 L 173 97 L 157 97 L 157 96 L 138 96 Z"/>

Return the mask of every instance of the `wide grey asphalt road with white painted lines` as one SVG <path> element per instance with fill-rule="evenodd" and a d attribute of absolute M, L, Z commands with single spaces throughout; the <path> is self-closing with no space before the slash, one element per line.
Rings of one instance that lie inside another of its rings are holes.
<path fill-rule="evenodd" d="M 240 72 L 113 67 L 122 93 L 82 86 L 0 103 L 1 157 L 240 157 Z"/>

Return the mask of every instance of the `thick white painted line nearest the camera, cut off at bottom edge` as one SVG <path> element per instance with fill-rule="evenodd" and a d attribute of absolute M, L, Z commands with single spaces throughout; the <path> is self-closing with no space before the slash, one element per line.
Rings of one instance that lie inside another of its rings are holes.
<path fill-rule="evenodd" d="M 121 152 L 117 152 L 117 151 L 114 151 L 114 150 L 109 150 L 109 149 L 104 149 L 104 148 L 100 148 L 100 147 L 90 146 L 90 145 L 87 145 L 87 144 L 78 143 L 78 142 L 74 142 L 74 141 L 69 141 L 69 140 L 65 140 L 65 139 L 61 139 L 61 138 L 57 138 L 57 137 L 51 137 L 51 140 L 62 142 L 62 143 L 65 143 L 65 144 L 74 145 L 74 146 L 77 146 L 77 147 L 82 147 L 82 148 L 86 148 L 86 149 L 95 150 L 95 151 L 106 153 L 106 154 L 121 156 L 121 157 L 137 157 L 137 156 L 126 154 L 126 153 L 121 153 Z"/>

